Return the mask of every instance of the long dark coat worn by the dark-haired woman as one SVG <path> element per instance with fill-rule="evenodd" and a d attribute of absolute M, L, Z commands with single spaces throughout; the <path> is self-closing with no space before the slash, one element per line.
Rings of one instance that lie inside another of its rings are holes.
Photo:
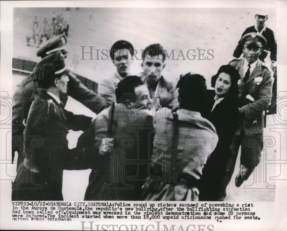
<path fill-rule="evenodd" d="M 214 96 L 215 91 L 209 90 L 207 104 L 209 112 L 214 105 Z M 202 170 L 198 186 L 199 200 L 201 201 L 218 201 L 220 199 L 220 189 L 226 171 L 227 160 L 230 157 L 229 147 L 238 127 L 239 113 L 237 107 L 236 101 L 226 95 L 207 116 L 207 119 L 216 128 L 218 144 Z"/>

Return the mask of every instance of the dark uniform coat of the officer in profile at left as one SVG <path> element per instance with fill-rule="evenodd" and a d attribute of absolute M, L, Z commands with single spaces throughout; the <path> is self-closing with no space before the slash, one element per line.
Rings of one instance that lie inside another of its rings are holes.
<path fill-rule="evenodd" d="M 91 119 L 65 111 L 46 91 L 40 90 L 27 118 L 12 200 L 63 200 L 63 170 L 87 169 L 95 156 L 95 149 L 69 149 L 68 129 L 73 126 L 74 130 L 85 130 Z"/>

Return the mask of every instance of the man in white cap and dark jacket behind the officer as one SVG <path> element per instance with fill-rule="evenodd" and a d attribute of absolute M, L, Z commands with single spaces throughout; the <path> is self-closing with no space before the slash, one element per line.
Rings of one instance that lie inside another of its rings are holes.
<path fill-rule="evenodd" d="M 259 35 L 262 35 L 266 39 L 266 45 L 263 48 L 261 54 L 259 55 L 259 59 L 264 61 L 267 57 L 268 51 L 271 52 L 270 59 L 272 61 L 271 68 L 276 67 L 277 60 L 277 43 L 274 38 L 274 33 L 271 29 L 265 26 L 265 21 L 268 19 L 267 12 L 265 10 L 257 10 L 255 14 L 256 24 L 254 26 L 248 27 L 242 34 L 243 37 L 245 34 L 254 32 Z M 241 40 L 238 42 L 237 47 L 234 50 L 233 56 L 239 58 L 243 52 L 244 44 L 241 43 Z"/>

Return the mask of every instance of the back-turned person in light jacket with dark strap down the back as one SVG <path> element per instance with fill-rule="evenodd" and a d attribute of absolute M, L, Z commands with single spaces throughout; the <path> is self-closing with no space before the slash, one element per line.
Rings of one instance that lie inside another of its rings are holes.
<path fill-rule="evenodd" d="M 179 108 L 156 113 L 151 175 L 143 187 L 143 200 L 198 201 L 196 183 L 218 137 L 212 123 L 201 116 L 206 105 L 206 84 L 199 74 L 181 76 Z"/>

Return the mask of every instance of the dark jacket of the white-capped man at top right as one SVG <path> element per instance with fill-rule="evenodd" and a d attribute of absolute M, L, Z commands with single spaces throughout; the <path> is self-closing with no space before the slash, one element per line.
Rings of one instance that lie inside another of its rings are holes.
<path fill-rule="evenodd" d="M 242 34 L 241 38 L 248 33 L 251 32 L 255 32 L 257 33 L 257 30 L 255 29 L 255 26 L 250 26 L 248 27 Z M 270 59 L 271 61 L 276 61 L 277 60 L 277 43 L 276 40 L 274 38 L 274 33 L 271 29 L 269 29 L 268 27 L 265 27 L 264 31 L 262 32 L 262 36 L 267 40 L 267 44 L 265 45 L 265 47 L 263 47 L 262 53 L 261 55 L 259 55 L 259 59 L 261 61 L 263 61 L 266 56 L 267 56 L 267 52 L 270 51 Z M 243 46 L 244 44 L 242 44 L 239 40 L 237 47 L 234 50 L 233 56 L 236 58 L 239 58 L 240 55 L 243 52 Z"/>

